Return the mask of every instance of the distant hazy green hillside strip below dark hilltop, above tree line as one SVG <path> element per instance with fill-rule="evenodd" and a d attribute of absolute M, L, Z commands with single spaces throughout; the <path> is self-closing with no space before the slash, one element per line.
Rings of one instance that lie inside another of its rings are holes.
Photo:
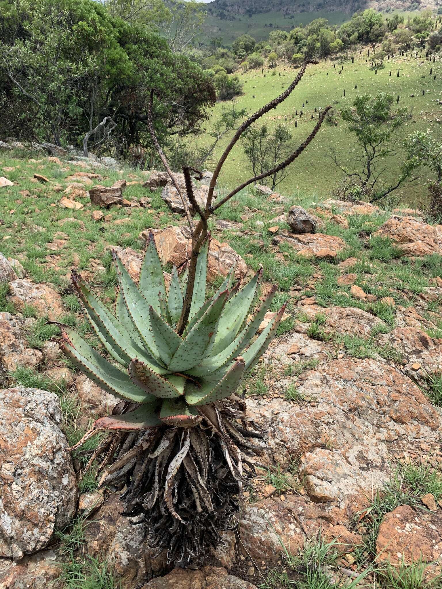
<path fill-rule="evenodd" d="M 306 25 L 315 18 L 326 18 L 331 25 L 341 25 L 348 20 L 348 16 L 348 14 L 341 11 L 329 12 L 321 10 L 318 12 L 302 12 L 295 14 L 293 18 L 285 18 L 281 12 L 273 11 L 255 14 L 250 17 L 247 15 L 238 15 L 235 20 L 227 21 L 209 14 L 204 24 L 204 30 L 211 37 L 222 37 L 224 45 L 230 45 L 235 41 L 236 37 L 239 37 L 243 33 L 252 35 L 256 41 L 262 41 L 268 38 L 269 32 L 273 29 L 291 31 L 291 29 L 297 27 L 300 23 Z M 265 25 L 269 25 L 270 23 L 273 24 L 273 28 L 265 27 Z"/>

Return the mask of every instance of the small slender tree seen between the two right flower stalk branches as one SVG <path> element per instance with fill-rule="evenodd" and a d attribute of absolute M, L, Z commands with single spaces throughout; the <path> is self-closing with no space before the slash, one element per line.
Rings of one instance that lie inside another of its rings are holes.
<path fill-rule="evenodd" d="M 291 139 L 291 133 L 281 124 L 275 127 L 273 133 L 265 124 L 246 130 L 242 136 L 242 148 L 253 176 L 265 174 L 284 160 L 292 151 Z M 275 190 L 287 174 L 288 171 L 284 169 L 268 176 L 272 190 Z"/>

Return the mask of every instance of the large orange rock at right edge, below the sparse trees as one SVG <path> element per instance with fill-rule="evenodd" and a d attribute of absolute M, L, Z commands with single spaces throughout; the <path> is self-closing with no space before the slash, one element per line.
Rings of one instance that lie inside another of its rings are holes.
<path fill-rule="evenodd" d="M 392 216 L 375 231 L 374 236 L 390 237 L 405 256 L 442 254 L 442 226 L 428 225 L 413 217 Z"/>

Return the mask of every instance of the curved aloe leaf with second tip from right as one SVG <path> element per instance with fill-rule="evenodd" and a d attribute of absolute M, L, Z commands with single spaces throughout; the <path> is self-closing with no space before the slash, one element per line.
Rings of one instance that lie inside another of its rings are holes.
<path fill-rule="evenodd" d="M 273 286 L 272 289 L 266 294 L 263 298 L 258 310 L 256 311 L 255 315 L 253 316 L 252 321 L 244 327 L 242 332 L 236 336 L 235 340 L 227 346 L 222 352 L 217 354 L 216 356 L 212 356 L 209 354 L 207 358 L 200 363 L 199 366 L 191 370 L 187 370 L 187 372 L 192 376 L 207 376 L 215 370 L 222 368 L 226 363 L 229 363 L 235 356 L 241 355 L 243 350 L 249 345 L 252 341 L 253 337 L 255 337 L 256 332 L 258 332 L 259 326 L 264 319 L 266 312 L 271 305 L 273 296 L 275 296 L 276 286 Z"/>

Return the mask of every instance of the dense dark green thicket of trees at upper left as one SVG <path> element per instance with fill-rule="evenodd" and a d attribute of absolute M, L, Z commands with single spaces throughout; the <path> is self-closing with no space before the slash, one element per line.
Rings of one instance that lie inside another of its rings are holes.
<path fill-rule="evenodd" d="M 174 51 L 176 36 L 158 34 L 162 2 L 146 13 L 136 1 L 2 0 L 0 134 L 78 146 L 91 132 L 95 147 L 149 148 L 151 91 L 163 145 L 198 130 L 216 100 L 212 80 Z"/>

